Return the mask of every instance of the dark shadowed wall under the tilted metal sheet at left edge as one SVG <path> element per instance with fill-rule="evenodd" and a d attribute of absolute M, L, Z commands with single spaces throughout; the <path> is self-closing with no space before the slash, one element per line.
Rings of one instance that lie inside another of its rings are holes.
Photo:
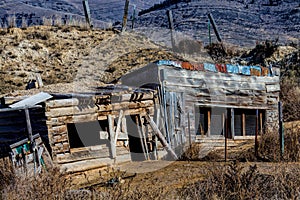
<path fill-rule="evenodd" d="M 44 108 L 29 109 L 33 134 L 39 133 L 48 142 Z M 0 112 L 0 156 L 7 156 L 9 145 L 28 137 L 24 110 Z"/>

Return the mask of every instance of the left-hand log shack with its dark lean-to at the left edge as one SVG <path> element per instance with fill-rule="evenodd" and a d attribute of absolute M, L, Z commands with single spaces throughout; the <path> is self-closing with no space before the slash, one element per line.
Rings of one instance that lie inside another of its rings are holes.
<path fill-rule="evenodd" d="M 10 108 L 24 98 L 26 101 L 26 97 L 2 98 L 2 156 L 8 155 L 13 143 L 29 140 L 24 108 Z M 97 88 L 94 93 L 54 93 L 28 108 L 31 132 L 39 133 L 53 163 L 66 172 L 157 159 L 157 140 L 146 120 L 146 115 L 152 120 L 156 101 L 154 90 L 123 86 Z"/>

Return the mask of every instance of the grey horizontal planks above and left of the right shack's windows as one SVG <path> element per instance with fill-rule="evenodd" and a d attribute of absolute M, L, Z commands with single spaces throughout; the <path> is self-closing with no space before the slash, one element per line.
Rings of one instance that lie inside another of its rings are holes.
<path fill-rule="evenodd" d="M 185 127 L 187 113 L 190 116 L 190 131 L 195 134 L 194 106 L 227 106 L 276 110 L 279 100 L 279 76 L 259 77 L 215 72 L 190 71 L 162 66 L 166 92 L 184 93 Z M 187 128 L 186 128 L 187 133 Z"/>

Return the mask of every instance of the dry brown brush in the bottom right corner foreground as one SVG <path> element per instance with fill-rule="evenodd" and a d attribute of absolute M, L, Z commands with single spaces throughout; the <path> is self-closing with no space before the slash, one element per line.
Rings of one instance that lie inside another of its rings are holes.
<path fill-rule="evenodd" d="M 179 190 L 182 199 L 297 199 L 300 197 L 300 170 L 280 167 L 272 174 L 233 162 L 213 167 L 207 178 Z"/>

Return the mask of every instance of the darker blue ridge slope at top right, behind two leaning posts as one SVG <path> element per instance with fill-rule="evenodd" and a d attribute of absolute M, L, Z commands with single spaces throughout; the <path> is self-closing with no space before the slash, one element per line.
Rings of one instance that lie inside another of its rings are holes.
<path fill-rule="evenodd" d="M 166 10 L 173 12 L 174 28 L 180 37 L 190 36 L 206 44 L 209 12 L 214 16 L 224 42 L 243 46 L 275 38 L 281 43 L 299 42 L 300 7 L 297 1 L 283 0 L 274 6 L 267 5 L 269 1 L 264 0 L 165 2 L 169 3 L 141 12 L 137 27 L 148 37 L 166 43 L 170 40 Z M 213 40 L 216 41 L 214 34 Z"/>

